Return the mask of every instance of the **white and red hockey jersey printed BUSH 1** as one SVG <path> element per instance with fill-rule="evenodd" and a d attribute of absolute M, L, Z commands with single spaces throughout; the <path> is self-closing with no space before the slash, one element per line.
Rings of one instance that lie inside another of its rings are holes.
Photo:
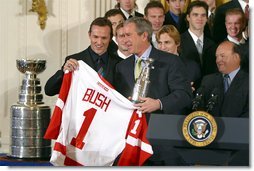
<path fill-rule="evenodd" d="M 50 162 L 56 166 L 142 165 L 153 151 L 147 123 L 132 103 L 83 61 L 64 74 L 44 135 L 56 139 Z"/>

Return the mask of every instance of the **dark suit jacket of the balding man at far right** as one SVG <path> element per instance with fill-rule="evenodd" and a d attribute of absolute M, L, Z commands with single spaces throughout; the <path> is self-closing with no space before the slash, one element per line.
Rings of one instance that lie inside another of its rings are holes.
<path fill-rule="evenodd" d="M 217 88 L 218 103 L 210 112 L 213 116 L 249 117 L 249 74 L 243 70 L 236 74 L 226 93 L 221 73 L 204 77 L 201 86 L 204 88 L 204 104 Z"/>

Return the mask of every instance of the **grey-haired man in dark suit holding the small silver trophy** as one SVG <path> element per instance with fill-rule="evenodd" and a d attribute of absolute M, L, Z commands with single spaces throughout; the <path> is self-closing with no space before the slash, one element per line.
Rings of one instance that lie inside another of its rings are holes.
<path fill-rule="evenodd" d="M 154 69 L 150 71 L 147 97 L 139 98 L 142 103 L 134 105 L 143 113 L 184 114 L 182 111 L 191 104 L 192 92 L 180 58 L 152 47 L 152 26 L 144 18 L 126 20 L 124 32 L 126 45 L 133 55 L 116 66 L 116 90 L 125 97 L 131 96 L 137 61 L 152 58 Z M 171 146 L 152 146 L 154 154 L 145 165 L 176 165 L 179 156 Z"/>

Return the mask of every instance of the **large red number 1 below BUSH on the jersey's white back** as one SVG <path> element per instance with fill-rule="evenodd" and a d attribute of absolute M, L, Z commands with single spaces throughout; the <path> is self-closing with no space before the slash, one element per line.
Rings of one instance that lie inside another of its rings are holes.
<path fill-rule="evenodd" d="M 77 147 L 79 149 L 82 149 L 85 145 L 85 143 L 83 142 L 86 133 L 93 121 L 93 118 L 95 116 L 95 113 L 97 112 L 97 109 L 91 108 L 88 109 L 84 112 L 84 116 L 85 116 L 85 120 L 83 121 L 81 128 L 78 132 L 77 137 L 73 137 L 71 140 L 71 145 L 73 145 L 74 147 Z"/>

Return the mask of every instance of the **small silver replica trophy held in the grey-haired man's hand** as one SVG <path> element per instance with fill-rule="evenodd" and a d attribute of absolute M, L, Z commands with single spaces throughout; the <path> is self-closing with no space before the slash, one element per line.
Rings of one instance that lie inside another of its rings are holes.
<path fill-rule="evenodd" d="M 149 84 L 150 84 L 150 70 L 153 69 L 153 66 L 151 64 L 153 63 L 152 58 L 148 58 L 146 60 L 143 60 L 145 62 L 145 66 L 142 68 L 142 71 L 136 80 L 136 83 L 133 88 L 131 101 L 133 103 L 140 103 L 139 97 L 146 97 Z"/>

